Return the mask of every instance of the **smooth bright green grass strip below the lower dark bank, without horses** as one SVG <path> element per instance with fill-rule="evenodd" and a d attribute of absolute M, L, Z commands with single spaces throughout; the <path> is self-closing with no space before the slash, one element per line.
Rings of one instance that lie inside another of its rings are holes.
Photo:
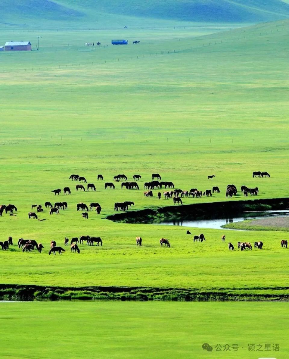
<path fill-rule="evenodd" d="M 0 303 L 1 358 L 144 358 L 149 355 L 150 358 L 285 359 L 289 350 L 286 306 L 273 302 Z M 27 328 L 31 340 L 20 340 Z M 213 350 L 209 353 L 203 350 L 204 343 L 210 344 Z M 226 344 L 230 346 L 228 351 L 224 351 Z M 233 344 L 237 344 L 237 351 L 232 349 Z M 248 351 L 248 345 L 253 348 L 254 344 L 255 350 Z M 265 350 L 266 344 L 270 351 Z M 279 351 L 273 350 L 276 344 Z"/>

